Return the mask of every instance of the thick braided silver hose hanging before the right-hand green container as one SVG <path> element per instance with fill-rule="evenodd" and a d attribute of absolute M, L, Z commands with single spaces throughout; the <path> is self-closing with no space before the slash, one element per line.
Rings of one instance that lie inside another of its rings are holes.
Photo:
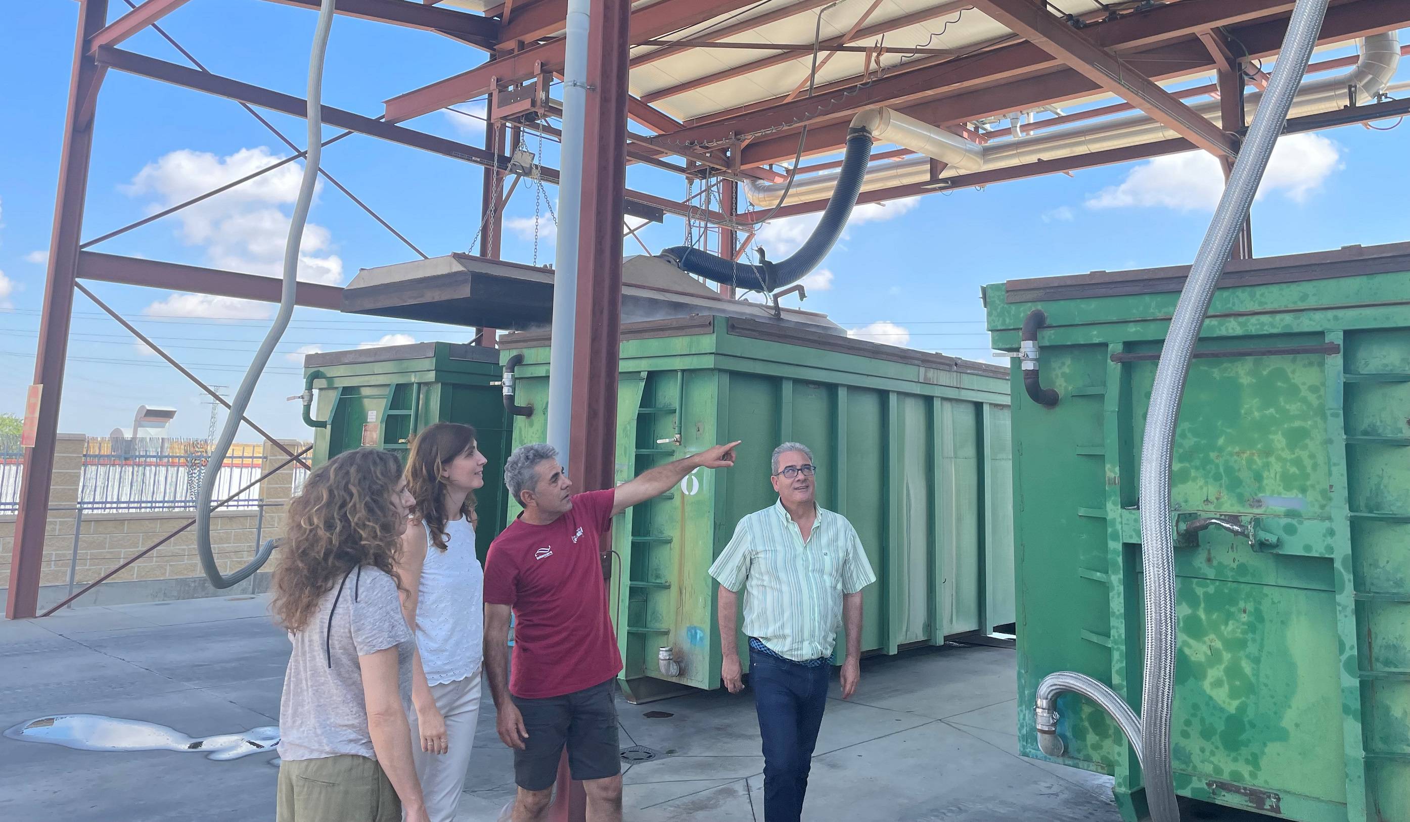
<path fill-rule="evenodd" d="M 1170 763 L 1170 705 L 1175 698 L 1175 663 L 1179 650 L 1175 603 L 1175 515 L 1170 510 L 1170 454 L 1179 422 L 1180 398 L 1190 372 L 1190 358 L 1200 327 L 1214 299 L 1234 240 L 1253 204 L 1253 195 L 1268 169 L 1287 111 L 1307 70 L 1328 0 L 1297 0 L 1287 34 L 1248 137 L 1234 162 L 1228 185 L 1214 210 L 1190 276 L 1180 292 L 1160 362 L 1156 367 L 1151 406 L 1141 447 L 1141 563 L 1145 587 L 1145 664 L 1141 716 L 1132 725 L 1129 706 L 1114 691 L 1083 674 L 1048 675 L 1038 689 L 1039 744 L 1050 756 L 1062 754 L 1056 736 L 1056 697 L 1073 691 L 1101 705 L 1136 749 L 1153 822 L 1180 822 Z"/>

